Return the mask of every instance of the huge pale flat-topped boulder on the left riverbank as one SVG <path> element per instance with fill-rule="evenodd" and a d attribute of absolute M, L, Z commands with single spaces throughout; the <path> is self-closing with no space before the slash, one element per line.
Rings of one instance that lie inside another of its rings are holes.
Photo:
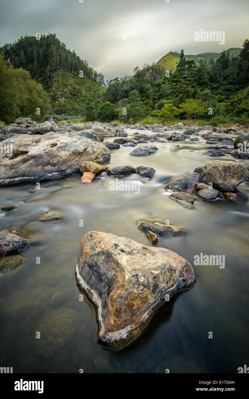
<path fill-rule="evenodd" d="M 101 143 L 70 133 L 19 134 L 2 143 L 13 145 L 13 156 L 0 154 L 0 186 L 32 183 L 79 173 L 84 161 L 97 163 L 110 158 Z"/>

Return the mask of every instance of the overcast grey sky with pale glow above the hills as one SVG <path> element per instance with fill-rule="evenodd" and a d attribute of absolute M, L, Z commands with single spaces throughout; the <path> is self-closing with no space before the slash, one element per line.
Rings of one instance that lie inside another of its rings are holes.
<path fill-rule="evenodd" d="M 105 79 L 169 51 L 220 52 L 249 39 L 248 0 L 0 0 L 0 15 L 0 45 L 55 33 Z M 201 29 L 225 31 L 225 44 L 194 41 Z"/>

